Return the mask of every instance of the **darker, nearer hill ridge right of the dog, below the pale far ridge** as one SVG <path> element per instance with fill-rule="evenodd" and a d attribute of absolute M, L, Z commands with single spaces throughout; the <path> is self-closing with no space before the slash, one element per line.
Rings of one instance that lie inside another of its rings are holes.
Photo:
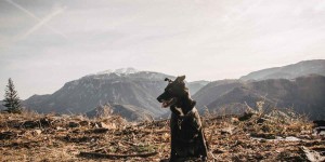
<path fill-rule="evenodd" d="M 310 75 L 295 80 L 269 79 L 243 82 L 216 81 L 197 92 L 198 109 L 218 113 L 242 113 L 247 105 L 264 102 L 269 110 L 292 108 L 310 119 L 325 119 L 325 77 Z M 264 107 L 265 108 L 265 107 Z"/>

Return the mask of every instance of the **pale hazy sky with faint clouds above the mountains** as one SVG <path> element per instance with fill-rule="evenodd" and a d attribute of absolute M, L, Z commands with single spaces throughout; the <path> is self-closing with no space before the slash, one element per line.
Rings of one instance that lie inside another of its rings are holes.
<path fill-rule="evenodd" d="M 219 80 L 324 51 L 324 0 L 0 0 L 1 96 L 10 77 L 27 98 L 106 69 Z"/>

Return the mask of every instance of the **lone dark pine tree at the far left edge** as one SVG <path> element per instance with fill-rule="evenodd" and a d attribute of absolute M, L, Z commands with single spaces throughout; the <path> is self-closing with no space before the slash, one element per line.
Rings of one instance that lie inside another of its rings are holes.
<path fill-rule="evenodd" d="M 11 78 L 8 81 L 3 103 L 3 106 L 6 107 L 8 112 L 22 112 L 21 99 L 18 97 L 17 92 L 15 91 L 15 86 Z"/>

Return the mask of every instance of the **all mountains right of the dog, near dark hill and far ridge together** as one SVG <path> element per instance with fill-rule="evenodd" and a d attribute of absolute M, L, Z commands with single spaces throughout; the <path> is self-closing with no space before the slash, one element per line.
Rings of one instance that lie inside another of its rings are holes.
<path fill-rule="evenodd" d="M 263 100 L 269 108 L 292 108 L 310 119 L 325 118 L 325 60 L 304 60 L 253 71 L 237 80 L 213 81 L 193 98 L 200 111 L 242 113 Z"/>

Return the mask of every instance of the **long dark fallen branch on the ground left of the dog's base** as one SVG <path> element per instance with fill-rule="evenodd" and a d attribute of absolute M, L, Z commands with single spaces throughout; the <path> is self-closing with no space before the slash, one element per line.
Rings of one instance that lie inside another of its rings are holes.
<path fill-rule="evenodd" d="M 128 157 L 152 157 L 156 156 L 158 152 L 148 152 L 148 153 L 138 153 L 138 154 L 107 154 L 107 153 L 98 153 L 98 152 L 80 152 L 79 156 L 81 157 L 93 157 L 93 158 L 128 158 Z"/>

